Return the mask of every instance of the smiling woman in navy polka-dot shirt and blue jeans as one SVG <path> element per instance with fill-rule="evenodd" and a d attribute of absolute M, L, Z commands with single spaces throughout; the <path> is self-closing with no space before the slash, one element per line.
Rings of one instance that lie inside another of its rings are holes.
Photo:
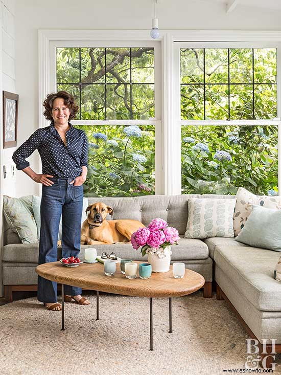
<path fill-rule="evenodd" d="M 65 91 L 49 94 L 43 102 L 44 116 L 51 125 L 37 129 L 13 154 L 16 168 L 42 184 L 39 264 L 57 260 L 59 222 L 62 215 L 62 256 L 80 252 L 83 183 L 88 170 L 88 143 L 83 130 L 68 120 L 75 117 L 78 106 Z M 34 172 L 26 158 L 38 149 L 42 174 Z M 66 301 L 89 304 L 81 297 L 81 288 L 65 285 Z M 61 310 L 57 302 L 57 283 L 38 276 L 38 300 L 53 311 Z"/>

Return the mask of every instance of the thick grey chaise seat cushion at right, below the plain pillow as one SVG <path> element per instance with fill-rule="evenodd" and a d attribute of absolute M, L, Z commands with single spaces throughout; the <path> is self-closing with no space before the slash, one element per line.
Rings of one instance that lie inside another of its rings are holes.
<path fill-rule="evenodd" d="M 245 246 L 217 246 L 215 262 L 240 293 L 262 311 L 281 310 L 281 283 L 274 279 L 279 253 Z M 223 285 L 220 285 L 223 289 Z"/>

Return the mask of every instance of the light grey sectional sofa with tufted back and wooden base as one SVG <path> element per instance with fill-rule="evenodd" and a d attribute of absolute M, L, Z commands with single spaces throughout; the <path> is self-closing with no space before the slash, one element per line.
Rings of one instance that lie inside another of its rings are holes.
<path fill-rule="evenodd" d="M 212 297 L 212 281 L 217 283 L 217 298 L 226 299 L 236 311 L 251 338 L 276 339 L 276 351 L 281 352 L 281 283 L 273 272 L 279 253 L 252 248 L 234 238 L 183 238 L 188 220 L 189 197 L 233 198 L 213 194 L 148 195 L 140 197 L 88 198 L 88 204 L 102 201 L 113 208 L 113 219 L 131 218 L 145 225 L 155 217 L 165 219 L 178 229 L 178 246 L 172 247 L 171 260 L 182 261 L 186 268 L 199 272 L 205 278 L 204 297 Z M 107 218 L 111 219 L 110 216 Z M 20 244 L 18 236 L 4 227 L 2 275 L 5 297 L 12 300 L 13 291 L 36 290 L 38 244 Z M 81 257 L 88 245 L 81 246 Z M 131 244 L 96 245 L 98 253 L 114 251 L 118 256 L 146 260 Z M 58 257 L 61 248 L 58 248 Z M 271 350 L 270 343 L 267 346 Z M 266 354 L 261 354 L 265 357 Z M 267 365 L 271 358 L 268 357 Z"/>

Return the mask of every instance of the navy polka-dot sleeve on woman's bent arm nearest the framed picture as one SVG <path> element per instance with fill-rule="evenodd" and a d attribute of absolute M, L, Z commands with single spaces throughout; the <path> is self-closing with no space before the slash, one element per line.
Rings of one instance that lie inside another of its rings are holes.
<path fill-rule="evenodd" d="M 18 170 L 29 167 L 29 162 L 26 160 L 32 152 L 40 145 L 40 129 L 34 131 L 27 141 L 22 143 L 13 153 L 12 159 L 16 164 Z"/>

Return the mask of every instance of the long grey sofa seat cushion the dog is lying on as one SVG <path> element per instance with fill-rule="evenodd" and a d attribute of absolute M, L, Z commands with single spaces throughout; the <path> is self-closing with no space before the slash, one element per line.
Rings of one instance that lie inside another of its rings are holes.
<path fill-rule="evenodd" d="M 178 241 L 179 245 L 172 246 L 172 260 L 192 260 L 192 259 L 207 259 L 208 247 L 200 239 L 181 238 Z M 80 256 L 84 257 L 84 249 L 93 247 L 92 245 L 82 245 Z M 113 251 L 120 258 L 132 257 L 134 260 L 144 260 L 139 250 L 134 250 L 129 244 L 114 244 L 114 245 L 95 245 L 98 255 L 102 252 Z M 3 247 L 2 259 L 5 262 L 26 262 L 37 263 L 39 254 L 39 244 L 10 244 Z M 58 247 L 58 259 L 61 258 L 61 247 Z"/>

